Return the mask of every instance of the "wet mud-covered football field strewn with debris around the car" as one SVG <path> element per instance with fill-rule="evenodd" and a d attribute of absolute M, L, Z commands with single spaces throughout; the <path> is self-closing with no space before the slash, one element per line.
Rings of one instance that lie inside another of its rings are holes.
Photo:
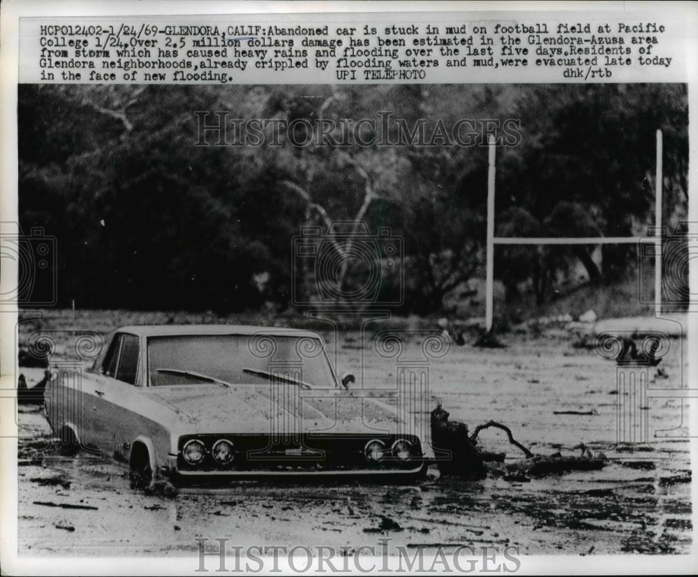
<path fill-rule="evenodd" d="M 521 481 L 442 476 L 397 486 L 245 481 L 165 499 L 129 489 L 122 465 L 87 455 L 60 458 L 47 448 L 43 414 L 22 407 L 20 555 L 191 555 L 197 537 L 239 546 L 357 548 L 389 537 L 394 545 L 445 551 L 510 544 L 530 554 L 688 553 L 688 403 L 682 420 L 680 400 L 648 399 L 639 410 L 648 416 L 651 444 L 630 451 L 615 442 L 614 363 L 574 348 L 563 331 L 505 341 L 506 349 L 454 346 L 432 360 L 434 406 L 442 402 L 471 430 L 490 419 L 504 423 L 536 454 L 578 455 L 574 447 L 584 441 L 607 455 L 604 469 Z M 649 369 L 652 387 L 680 386 L 686 351 L 682 360 L 678 341 L 674 345 L 660 365 L 667 377 Z M 342 337 L 336 350 L 339 370 L 359 374 L 357 335 Z M 420 350 L 412 339 L 405 354 Z M 363 353 L 366 386 L 394 382 L 394 361 L 371 346 Z M 43 374 L 23 372 L 29 386 Z M 522 456 L 498 430 L 483 431 L 480 443 L 506 451 L 507 460 Z"/>

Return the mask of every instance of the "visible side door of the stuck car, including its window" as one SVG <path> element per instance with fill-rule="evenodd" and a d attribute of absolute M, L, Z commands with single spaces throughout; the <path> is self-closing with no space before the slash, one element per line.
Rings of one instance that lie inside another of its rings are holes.
<path fill-rule="evenodd" d="M 91 430 L 98 448 L 109 457 L 121 459 L 128 454 L 128 443 L 135 437 L 140 421 L 135 413 L 140 339 L 128 333 L 120 333 L 114 339 L 117 342 L 113 356 L 107 353 L 103 372 L 95 381 Z"/>

